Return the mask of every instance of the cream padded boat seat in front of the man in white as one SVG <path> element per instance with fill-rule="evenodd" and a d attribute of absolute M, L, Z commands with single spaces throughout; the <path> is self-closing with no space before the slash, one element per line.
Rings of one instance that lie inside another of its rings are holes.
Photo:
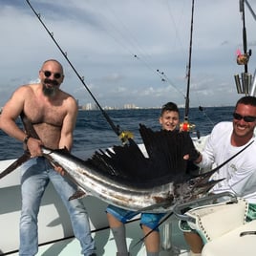
<path fill-rule="evenodd" d="M 247 211 L 245 199 L 231 198 L 192 208 L 178 217 L 202 237 L 202 256 L 255 255 L 256 220 L 246 223 Z"/>

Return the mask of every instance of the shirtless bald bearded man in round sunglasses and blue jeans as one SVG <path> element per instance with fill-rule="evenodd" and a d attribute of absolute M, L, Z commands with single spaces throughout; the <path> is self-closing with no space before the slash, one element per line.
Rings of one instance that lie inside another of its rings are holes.
<path fill-rule="evenodd" d="M 96 255 L 85 207 L 79 200 L 69 201 L 75 185 L 54 171 L 42 157 L 41 145 L 71 150 L 77 116 L 75 98 L 59 89 L 63 82 L 61 64 L 50 59 L 39 71 L 40 83 L 19 87 L 3 108 L 0 127 L 9 136 L 23 141 L 32 155 L 21 168 L 22 211 L 20 218 L 19 255 L 35 255 L 38 250 L 37 215 L 44 191 L 53 182 L 73 224 L 75 237 L 85 256 Z M 29 138 L 15 120 L 24 113 L 32 122 L 39 139 Z"/>

